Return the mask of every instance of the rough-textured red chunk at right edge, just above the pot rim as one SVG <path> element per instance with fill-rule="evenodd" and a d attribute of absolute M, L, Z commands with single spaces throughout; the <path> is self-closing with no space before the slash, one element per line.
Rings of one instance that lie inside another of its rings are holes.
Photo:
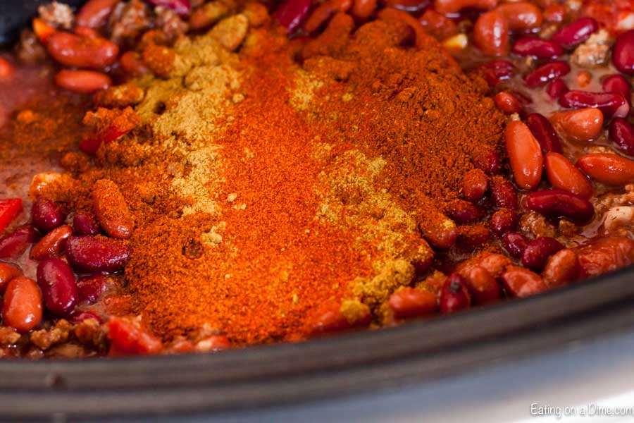
<path fill-rule="evenodd" d="M 576 248 L 583 277 L 597 276 L 634 262 L 634 240 L 614 236 L 592 240 Z"/>

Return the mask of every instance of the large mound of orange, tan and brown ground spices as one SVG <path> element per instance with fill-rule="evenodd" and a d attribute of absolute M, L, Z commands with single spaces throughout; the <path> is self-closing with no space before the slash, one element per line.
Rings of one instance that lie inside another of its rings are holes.
<path fill-rule="evenodd" d="M 297 341 L 329 307 L 381 319 L 414 264 L 430 265 L 417 226 L 442 227 L 461 176 L 499 149 L 502 116 L 433 38 L 408 47 L 398 20 L 351 29 L 335 16 L 302 66 L 268 28 L 238 55 L 215 50 L 211 30 L 142 82 L 136 109 L 173 147 L 184 202 L 132 237 L 126 279 L 156 333 Z"/>

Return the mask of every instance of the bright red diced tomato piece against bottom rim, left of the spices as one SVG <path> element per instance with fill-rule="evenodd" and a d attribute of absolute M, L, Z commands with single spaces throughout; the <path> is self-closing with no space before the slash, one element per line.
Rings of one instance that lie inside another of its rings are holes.
<path fill-rule="evenodd" d="M 110 355 L 156 354 L 163 349 L 159 338 L 121 317 L 111 316 L 108 320 L 108 338 Z"/>

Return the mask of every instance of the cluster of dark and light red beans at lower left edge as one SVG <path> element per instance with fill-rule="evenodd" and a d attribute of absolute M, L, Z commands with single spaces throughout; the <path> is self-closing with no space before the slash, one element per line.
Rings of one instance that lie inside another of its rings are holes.
<path fill-rule="evenodd" d="M 0 200 L 0 229 L 21 211 L 21 199 Z M 30 216 L 30 223 L 0 238 L 3 324 L 26 333 L 42 322 L 44 307 L 54 317 L 101 321 L 94 312 L 76 307 L 92 305 L 112 288 L 105 275 L 123 269 L 128 246 L 97 236 L 101 229 L 92 216 L 76 214 L 66 223 L 61 205 L 44 197 L 33 202 Z M 23 276 L 18 262 L 37 263 L 37 283 Z M 83 276 L 77 279 L 75 272 Z"/>

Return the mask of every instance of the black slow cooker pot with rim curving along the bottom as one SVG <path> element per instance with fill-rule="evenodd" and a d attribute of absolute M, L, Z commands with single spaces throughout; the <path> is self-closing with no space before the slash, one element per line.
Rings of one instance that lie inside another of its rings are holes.
<path fill-rule="evenodd" d="M 0 42 L 15 39 L 46 2 L 2 1 Z M 230 410 L 433 383 L 626 330 L 634 326 L 633 309 L 630 267 L 532 298 L 304 343 L 217 354 L 0 360 L 0 419 Z"/>

